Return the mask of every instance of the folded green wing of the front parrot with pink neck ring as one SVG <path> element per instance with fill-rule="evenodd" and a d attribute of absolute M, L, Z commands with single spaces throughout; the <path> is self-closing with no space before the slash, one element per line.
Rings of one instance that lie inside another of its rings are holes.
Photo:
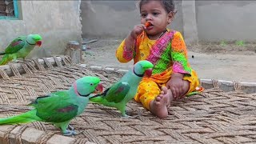
<path fill-rule="evenodd" d="M 66 122 L 77 116 L 78 105 L 67 91 L 58 91 L 46 97 L 38 97 L 31 106 L 37 110 L 37 116 L 45 122 Z"/>

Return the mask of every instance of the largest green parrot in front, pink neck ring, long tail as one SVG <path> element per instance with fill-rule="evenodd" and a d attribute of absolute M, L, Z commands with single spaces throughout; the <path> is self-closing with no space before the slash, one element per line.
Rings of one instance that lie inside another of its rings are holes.
<path fill-rule="evenodd" d="M 9 118 L 0 118 L 0 125 L 34 121 L 51 122 L 62 130 L 63 135 L 76 134 L 72 126 L 70 126 L 71 130 L 67 129 L 69 123 L 85 110 L 91 93 L 102 92 L 103 86 L 99 82 L 100 79 L 97 77 L 79 78 L 69 90 L 38 97 L 29 104 L 34 106 L 33 110 Z"/>

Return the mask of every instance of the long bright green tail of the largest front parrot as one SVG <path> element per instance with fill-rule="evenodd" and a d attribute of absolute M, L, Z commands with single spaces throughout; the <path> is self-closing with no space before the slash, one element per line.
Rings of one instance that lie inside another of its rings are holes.
<path fill-rule="evenodd" d="M 36 113 L 37 113 L 37 110 L 30 110 L 26 113 L 12 116 L 9 118 L 0 118 L 0 125 L 34 122 L 40 119 L 38 118 L 38 116 L 36 116 Z"/>

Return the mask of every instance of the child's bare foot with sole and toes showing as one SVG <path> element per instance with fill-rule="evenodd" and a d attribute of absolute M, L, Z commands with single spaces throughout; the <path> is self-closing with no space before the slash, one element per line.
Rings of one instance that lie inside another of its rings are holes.
<path fill-rule="evenodd" d="M 168 115 L 167 108 L 173 100 L 174 98 L 170 89 L 167 89 L 166 86 L 162 86 L 161 93 L 150 102 L 150 112 L 158 118 L 166 118 Z"/>

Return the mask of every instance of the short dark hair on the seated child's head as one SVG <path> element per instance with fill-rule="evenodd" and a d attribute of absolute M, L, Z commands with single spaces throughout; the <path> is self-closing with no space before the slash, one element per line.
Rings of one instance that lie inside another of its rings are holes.
<path fill-rule="evenodd" d="M 138 6 L 139 6 L 139 10 L 141 10 L 142 5 L 150 2 L 152 0 L 140 0 L 138 2 Z M 175 12 L 175 6 L 174 6 L 174 1 L 173 0 L 158 0 L 159 2 L 161 2 L 162 6 L 165 8 L 167 13 L 170 13 L 171 11 Z"/>

